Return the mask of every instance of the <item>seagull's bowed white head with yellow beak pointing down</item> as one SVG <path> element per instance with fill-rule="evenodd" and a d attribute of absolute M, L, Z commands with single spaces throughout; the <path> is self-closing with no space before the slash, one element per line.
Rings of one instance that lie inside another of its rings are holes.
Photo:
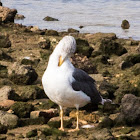
<path fill-rule="evenodd" d="M 60 40 L 55 50 L 59 53 L 59 63 L 58 66 L 61 66 L 62 63 L 70 57 L 76 50 L 76 41 L 72 36 L 65 36 Z"/>

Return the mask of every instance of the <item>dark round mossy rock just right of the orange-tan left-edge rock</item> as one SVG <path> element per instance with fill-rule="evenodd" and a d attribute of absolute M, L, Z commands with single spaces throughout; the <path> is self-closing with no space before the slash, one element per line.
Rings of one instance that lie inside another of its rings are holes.
<path fill-rule="evenodd" d="M 13 110 L 14 114 L 19 118 L 27 118 L 30 117 L 30 112 L 33 110 L 33 106 L 26 102 L 16 102 L 10 109 Z"/>

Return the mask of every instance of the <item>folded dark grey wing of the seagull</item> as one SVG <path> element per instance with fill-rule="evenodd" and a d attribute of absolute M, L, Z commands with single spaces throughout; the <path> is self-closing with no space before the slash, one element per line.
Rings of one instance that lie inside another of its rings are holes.
<path fill-rule="evenodd" d="M 75 81 L 72 82 L 72 88 L 75 91 L 83 91 L 91 98 L 91 102 L 94 104 L 98 104 L 102 101 L 101 95 L 96 88 L 95 80 L 86 72 L 75 68 L 72 76 L 75 79 Z"/>

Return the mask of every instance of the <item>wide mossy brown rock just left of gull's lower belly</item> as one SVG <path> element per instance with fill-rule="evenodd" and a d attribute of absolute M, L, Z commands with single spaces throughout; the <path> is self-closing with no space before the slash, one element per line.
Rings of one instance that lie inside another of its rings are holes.
<path fill-rule="evenodd" d="M 20 96 L 22 101 L 35 100 L 47 98 L 44 90 L 38 86 L 21 86 L 17 94 Z"/>

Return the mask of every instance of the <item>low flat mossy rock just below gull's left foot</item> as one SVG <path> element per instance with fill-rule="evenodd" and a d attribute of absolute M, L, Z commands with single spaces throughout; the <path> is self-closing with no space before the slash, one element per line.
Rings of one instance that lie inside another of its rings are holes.
<path fill-rule="evenodd" d="M 60 131 L 57 128 L 44 128 L 41 132 L 45 136 L 66 136 L 66 132 Z"/>

